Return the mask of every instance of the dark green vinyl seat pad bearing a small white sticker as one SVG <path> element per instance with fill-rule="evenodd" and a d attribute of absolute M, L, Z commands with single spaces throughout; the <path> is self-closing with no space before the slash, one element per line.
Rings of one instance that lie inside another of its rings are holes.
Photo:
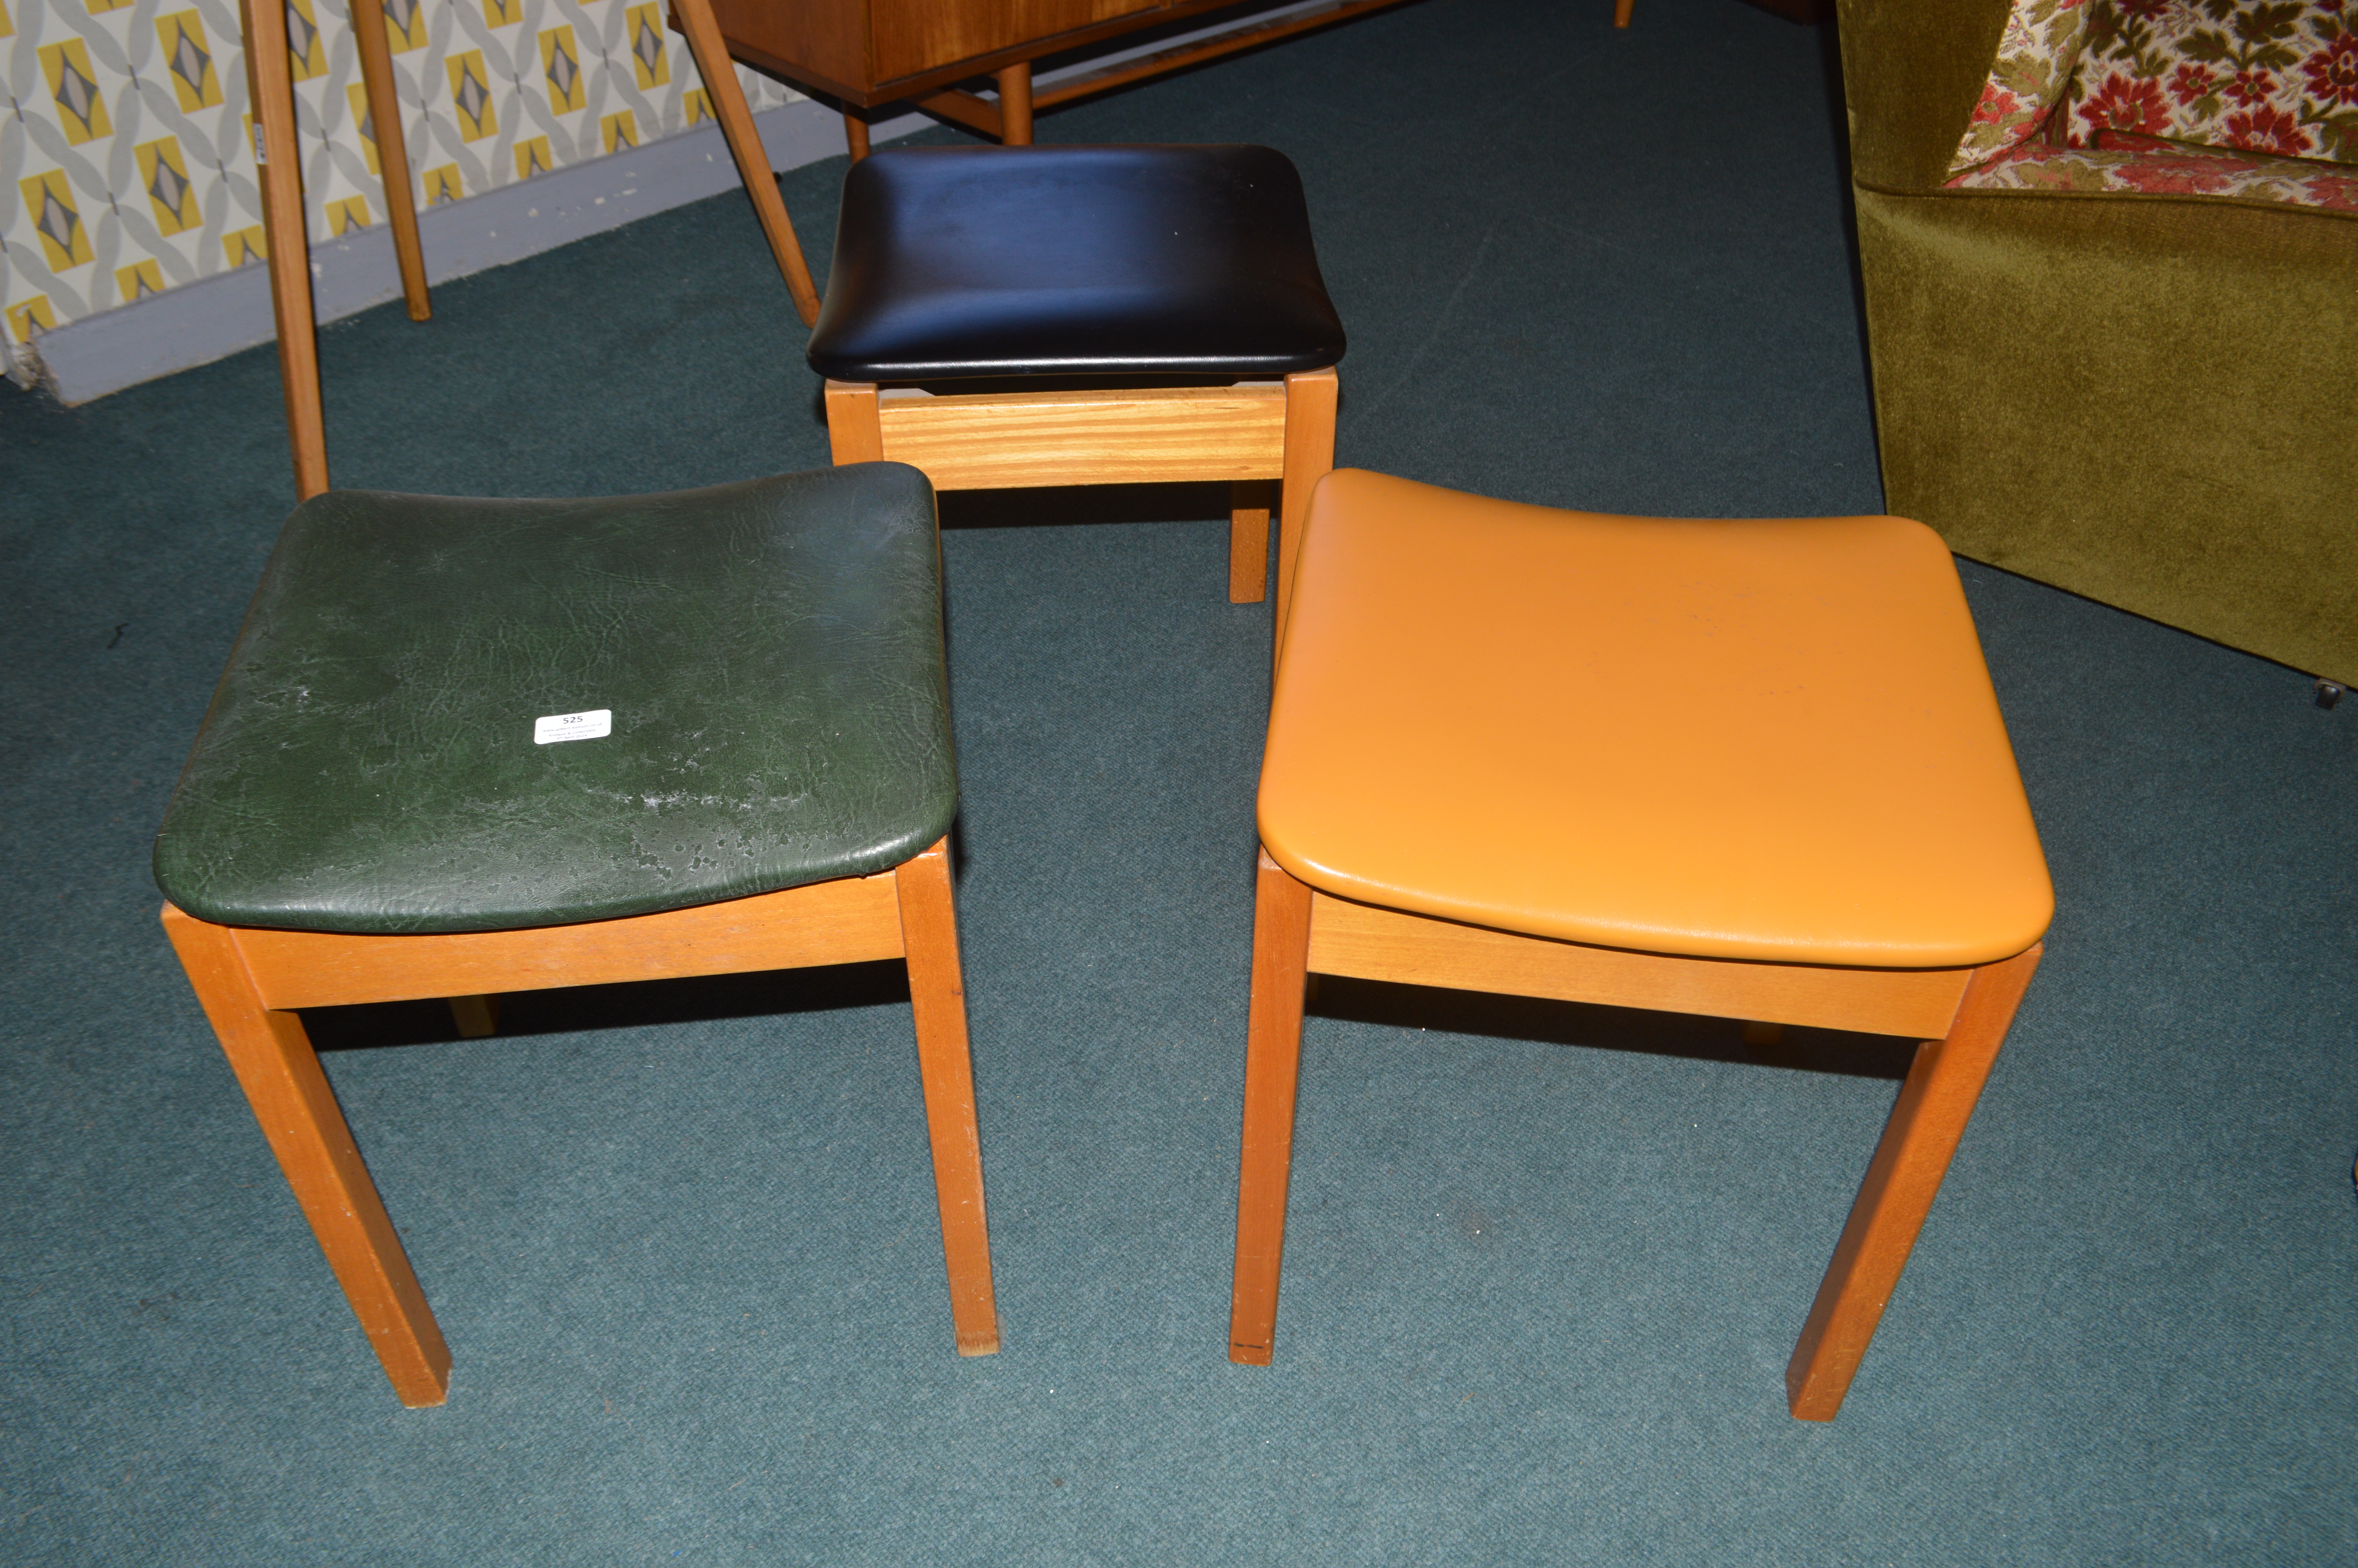
<path fill-rule="evenodd" d="M 535 743 L 592 710 L 606 738 Z M 217 924 L 493 931 L 887 870 L 955 811 L 917 469 L 330 490 L 262 573 L 156 882 Z"/>

